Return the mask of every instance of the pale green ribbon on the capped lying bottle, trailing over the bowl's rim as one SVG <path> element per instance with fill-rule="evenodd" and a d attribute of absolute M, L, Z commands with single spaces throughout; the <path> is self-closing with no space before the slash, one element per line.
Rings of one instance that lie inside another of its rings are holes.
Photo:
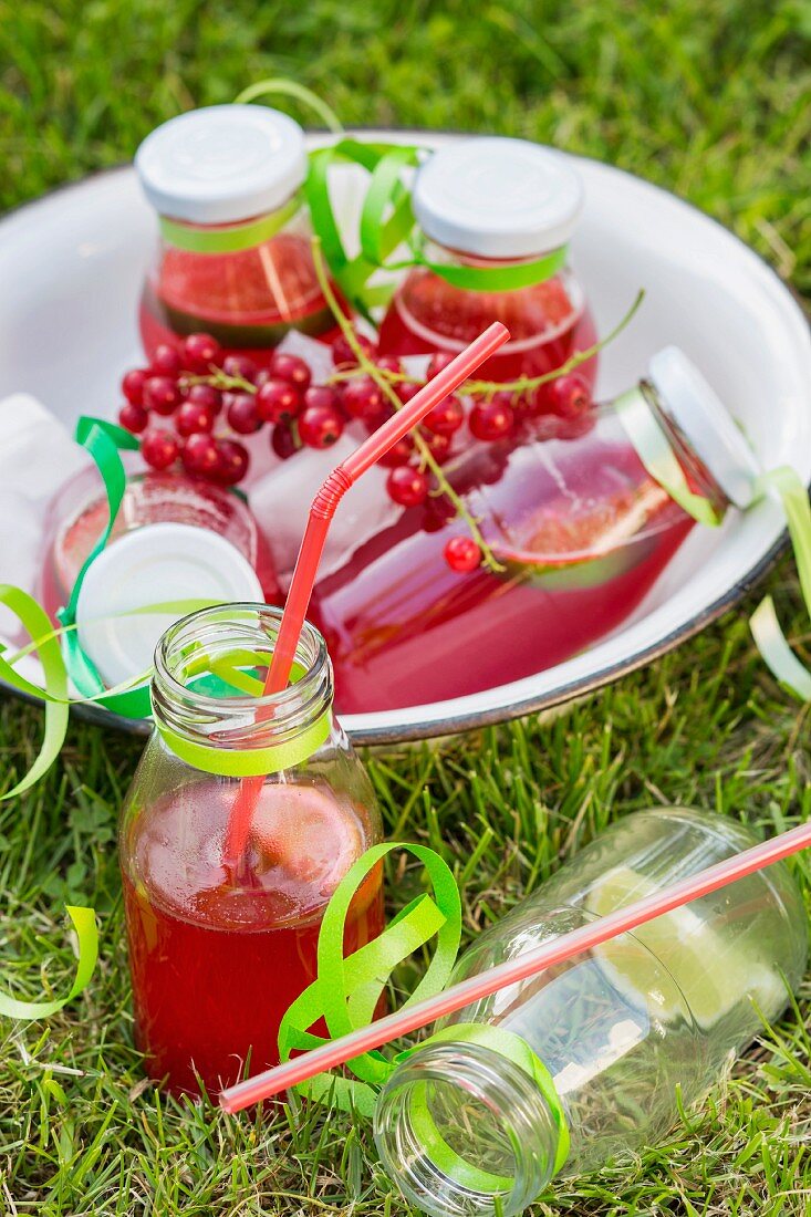
<path fill-rule="evenodd" d="M 615 406 L 620 422 L 650 476 L 693 520 L 717 527 L 723 515 L 705 495 L 690 489 L 644 392 L 641 388 L 630 389 L 616 399 Z M 781 465 L 762 472 L 754 486 L 755 503 L 767 495 L 778 500 L 785 515 L 802 601 L 811 617 L 811 505 L 807 487 L 795 469 Z M 749 628 L 774 679 L 801 701 L 811 701 L 811 672 L 792 651 L 771 596 L 765 596 L 751 615 Z"/>

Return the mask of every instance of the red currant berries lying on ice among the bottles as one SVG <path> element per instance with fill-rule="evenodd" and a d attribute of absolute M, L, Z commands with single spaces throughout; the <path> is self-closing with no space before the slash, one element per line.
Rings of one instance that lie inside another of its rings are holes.
<path fill-rule="evenodd" d="M 399 402 L 406 404 L 423 387 L 406 378 L 398 359 L 379 355 L 364 335 L 356 335 L 356 342 L 386 376 Z M 167 470 L 180 461 L 189 473 L 236 486 L 247 473 L 250 454 L 234 434 L 252 436 L 268 424 L 270 445 L 286 460 L 302 445 L 331 447 L 349 421 L 373 432 L 393 414 L 390 396 L 358 368 L 357 350 L 346 337 L 340 336 L 331 352 L 335 380 L 313 385 L 312 371 L 298 355 L 276 352 L 267 369 L 257 369 L 246 355 L 223 355 L 211 335 L 192 333 L 179 349 L 158 347 L 150 368 L 127 372 L 122 381 L 127 402 L 118 420 L 141 436 L 141 455 L 152 469 Z M 452 358 L 434 355 L 427 378 Z M 576 430 L 588 414 L 591 400 L 588 383 L 570 372 L 526 393 L 499 389 L 475 397 L 468 413 L 451 394 L 416 431 L 442 465 L 465 422 L 470 434 L 485 442 L 505 439 L 530 420 L 536 433 L 565 438 L 566 428 Z M 156 415 L 167 424 L 153 425 Z M 223 421 L 228 430 L 219 432 Z M 386 490 L 395 503 L 416 507 L 426 501 L 431 475 L 419 460 L 413 434 L 395 444 L 380 464 L 388 470 Z M 454 571 L 472 571 L 481 561 L 481 550 L 472 537 L 460 535 L 448 542 L 444 557 Z"/>

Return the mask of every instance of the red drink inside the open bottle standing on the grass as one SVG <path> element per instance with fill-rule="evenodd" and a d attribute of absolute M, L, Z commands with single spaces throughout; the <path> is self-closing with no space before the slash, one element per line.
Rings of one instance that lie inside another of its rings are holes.
<path fill-rule="evenodd" d="M 265 785 L 235 886 L 219 860 L 233 798 L 233 785 L 203 779 L 122 837 L 136 1043 L 173 1090 L 197 1093 L 198 1073 L 217 1092 L 248 1059 L 250 1072 L 278 1062 L 281 1016 L 315 977 L 326 901 L 370 843 L 363 811 L 325 787 Z M 373 871 L 354 898 L 345 953 L 382 930 L 380 880 Z"/>

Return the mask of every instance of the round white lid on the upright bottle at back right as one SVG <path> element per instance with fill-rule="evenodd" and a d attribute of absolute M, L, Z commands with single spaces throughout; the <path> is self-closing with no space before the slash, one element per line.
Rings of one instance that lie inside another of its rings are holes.
<path fill-rule="evenodd" d="M 413 206 L 440 245 L 482 258 L 526 258 L 569 241 L 583 187 L 552 148 L 483 136 L 438 148 L 418 170 Z"/>

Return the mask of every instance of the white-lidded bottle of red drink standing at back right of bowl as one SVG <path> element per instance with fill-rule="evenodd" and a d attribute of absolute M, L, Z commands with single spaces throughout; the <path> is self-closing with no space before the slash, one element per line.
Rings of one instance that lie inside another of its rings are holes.
<path fill-rule="evenodd" d="M 418 170 L 412 203 L 420 265 L 398 286 L 380 327 L 386 355 L 455 355 L 492 321 L 510 341 L 479 377 L 543 376 L 595 342 L 566 246 L 582 208 L 580 179 L 550 148 L 465 139 Z M 597 360 L 578 372 L 589 387 Z"/>

